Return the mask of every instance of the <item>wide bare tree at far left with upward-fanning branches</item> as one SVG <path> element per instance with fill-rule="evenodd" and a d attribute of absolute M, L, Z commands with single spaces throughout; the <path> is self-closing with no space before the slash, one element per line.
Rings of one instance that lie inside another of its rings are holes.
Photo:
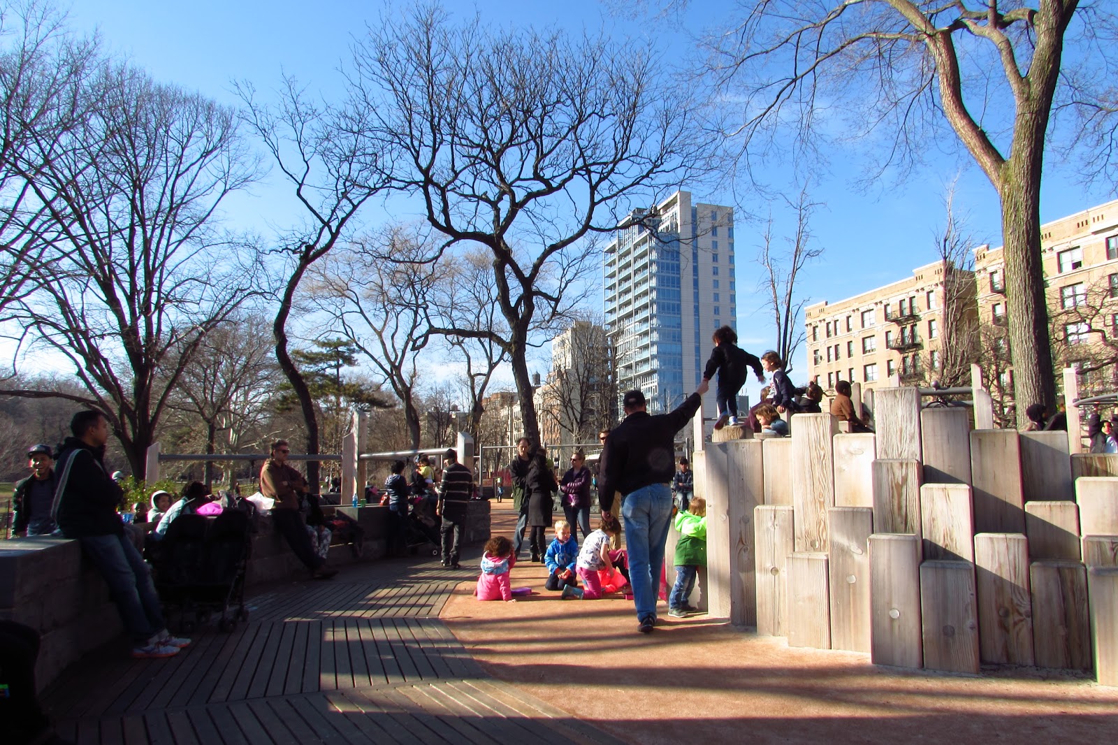
<path fill-rule="evenodd" d="M 202 339 L 253 294 L 250 256 L 239 261 L 214 217 L 256 168 L 234 112 L 198 94 L 106 63 L 80 95 L 96 107 L 26 155 L 37 168 L 21 177 L 45 209 L 22 227 L 45 247 L 16 319 L 70 360 L 85 394 L 2 393 L 101 409 L 141 478 Z"/>

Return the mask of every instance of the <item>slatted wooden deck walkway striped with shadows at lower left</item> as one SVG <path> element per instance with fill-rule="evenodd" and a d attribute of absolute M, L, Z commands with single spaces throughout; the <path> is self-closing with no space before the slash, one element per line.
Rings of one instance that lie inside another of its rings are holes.
<path fill-rule="evenodd" d="M 617 742 L 487 678 L 438 620 L 470 578 L 397 559 L 272 587 L 231 633 L 168 660 L 111 644 L 44 698 L 79 744 Z"/>

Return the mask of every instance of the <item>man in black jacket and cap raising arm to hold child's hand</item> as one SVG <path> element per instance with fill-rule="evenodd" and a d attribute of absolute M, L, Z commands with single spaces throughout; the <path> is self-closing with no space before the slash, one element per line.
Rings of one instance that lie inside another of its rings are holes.
<path fill-rule="evenodd" d="M 614 492 L 623 494 L 629 584 L 642 633 L 656 624 L 664 543 L 672 519 L 669 484 L 675 471 L 675 433 L 699 411 L 708 388 L 704 379 L 679 408 L 657 416 L 646 411 L 643 393 L 628 392 L 623 399 L 625 421 L 609 433 L 601 451 L 598 503 L 603 515 L 612 512 Z"/>

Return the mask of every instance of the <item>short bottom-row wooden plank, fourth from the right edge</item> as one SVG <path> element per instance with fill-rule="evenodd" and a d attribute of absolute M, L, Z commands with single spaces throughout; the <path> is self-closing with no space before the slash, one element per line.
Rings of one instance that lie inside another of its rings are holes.
<path fill-rule="evenodd" d="M 923 667 L 977 675 L 978 603 L 969 562 L 920 565 Z"/>

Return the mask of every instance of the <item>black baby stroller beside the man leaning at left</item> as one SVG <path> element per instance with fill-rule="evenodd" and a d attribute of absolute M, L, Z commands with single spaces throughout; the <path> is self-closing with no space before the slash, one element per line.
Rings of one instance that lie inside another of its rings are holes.
<path fill-rule="evenodd" d="M 248 515 L 230 509 L 212 518 L 182 515 L 163 540 L 150 547 L 155 591 L 164 605 L 178 609 L 183 633 L 214 613 L 220 613 L 221 631 L 248 620 L 245 573 L 250 546 Z"/>

